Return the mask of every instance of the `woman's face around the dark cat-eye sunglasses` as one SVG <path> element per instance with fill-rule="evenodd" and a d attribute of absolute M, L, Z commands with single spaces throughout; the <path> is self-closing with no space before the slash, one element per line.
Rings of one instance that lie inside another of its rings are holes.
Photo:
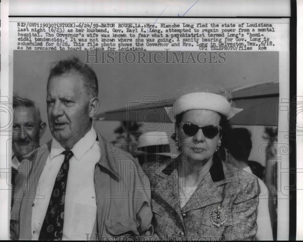
<path fill-rule="evenodd" d="M 185 112 L 181 122 L 189 122 L 199 127 L 204 127 L 207 125 L 219 125 L 220 119 L 221 117 L 217 112 L 198 109 Z M 194 150 L 189 151 L 191 154 L 184 154 L 193 161 L 208 161 L 215 153 L 220 140 L 219 133 L 214 138 L 206 138 L 202 129 L 199 129 L 194 136 L 187 136 L 183 129 L 179 127 L 177 128 L 176 134 L 179 137 L 181 152 L 183 154 L 183 151 L 186 150 L 185 146 L 193 145 L 195 147 Z"/>

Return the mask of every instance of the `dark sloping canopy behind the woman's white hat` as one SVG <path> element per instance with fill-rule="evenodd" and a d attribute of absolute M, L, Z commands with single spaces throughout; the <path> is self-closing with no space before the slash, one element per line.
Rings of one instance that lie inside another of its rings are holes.
<path fill-rule="evenodd" d="M 237 125 L 278 125 L 279 82 L 234 88 L 231 91 L 232 102 L 243 111 L 230 119 Z M 119 108 L 97 114 L 94 120 L 136 121 L 171 123 L 164 107 L 171 102 L 132 103 L 126 108 Z"/>

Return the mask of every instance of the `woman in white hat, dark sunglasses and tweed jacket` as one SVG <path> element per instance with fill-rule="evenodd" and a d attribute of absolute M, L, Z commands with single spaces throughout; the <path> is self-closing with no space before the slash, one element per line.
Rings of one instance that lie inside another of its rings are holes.
<path fill-rule="evenodd" d="M 151 162 L 155 234 L 164 240 L 252 240 L 258 180 L 222 163 L 217 152 L 228 119 L 241 111 L 221 95 L 185 94 L 175 102 L 177 159 Z"/>

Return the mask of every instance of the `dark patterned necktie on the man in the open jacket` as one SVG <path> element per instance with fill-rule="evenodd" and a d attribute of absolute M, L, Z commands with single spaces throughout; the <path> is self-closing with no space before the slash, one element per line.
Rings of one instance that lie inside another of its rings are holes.
<path fill-rule="evenodd" d="M 63 151 L 64 161 L 58 172 L 48 204 L 46 215 L 40 230 L 39 240 L 62 240 L 64 222 L 65 190 L 72 151 Z"/>

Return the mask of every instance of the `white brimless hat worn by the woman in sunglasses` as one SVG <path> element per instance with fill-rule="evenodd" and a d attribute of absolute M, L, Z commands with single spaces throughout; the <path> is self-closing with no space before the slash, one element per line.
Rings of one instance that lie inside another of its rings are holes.
<path fill-rule="evenodd" d="M 232 108 L 227 99 L 219 94 L 210 92 L 193 92 L 182 95 L 175 101 L 175 115 L 192 109 L 207 109 L 223 114 L 227 119 L 232 118 L 241 108 Z M 173 109 L 165 108 L 168 116 L 173 118 Z"/>

